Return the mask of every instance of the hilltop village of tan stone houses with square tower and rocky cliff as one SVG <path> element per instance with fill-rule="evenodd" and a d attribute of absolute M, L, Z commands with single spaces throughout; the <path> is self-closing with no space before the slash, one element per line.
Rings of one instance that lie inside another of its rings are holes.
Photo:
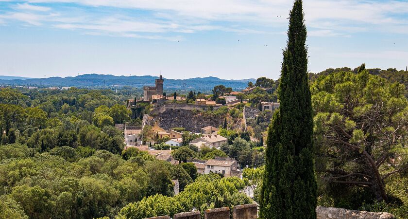
<path fill-rule="evenodd" d="M 140 125 L 115 125 L 124 132 L 125 150 L 147 151 L 171 164 L 193 163 L 199 174 L 215 173 L 224 177 L 241 178 L 243 168 L 263 164 L 267 124 L 279 103 L 255 104 L 244 97 L 255 94 L 262 99 L 271 95 L 277 87 L 273 80 L 260 78 L 257 84 L 249 83 L 241 91 L 220 85 L 214 88 L 213 94 L 190 91 L 187 95 L 166 94 L 163 83 L 160 75 L 155 79 L 155 86 L 143 87 L 143 97 L 127 100 L 132 119 L 140 118 Z M 273 87 L 261 86 L 267 83 Z M 224 151 L 238 137 L 244 141 L 243 147 L 249 145 L 250 151 L 247 154 L 237 151 L 229 156 Z M 180 147 L 184 147 L 184 154 L 175 152 Z M 191 151 L 209 151 L 211 155 L 197 159 Z"/>

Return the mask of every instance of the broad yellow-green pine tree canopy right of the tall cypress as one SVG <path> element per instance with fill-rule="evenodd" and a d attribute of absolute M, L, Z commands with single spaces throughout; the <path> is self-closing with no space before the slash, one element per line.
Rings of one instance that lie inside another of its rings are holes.
<path fill-rule="evenodd" d="M 342 190 L 369 187 L 387 201 L 384 180 L 408 169 L 404 85 L 363 70 L 321 76 L 311 90 L 319 176 Z"/>

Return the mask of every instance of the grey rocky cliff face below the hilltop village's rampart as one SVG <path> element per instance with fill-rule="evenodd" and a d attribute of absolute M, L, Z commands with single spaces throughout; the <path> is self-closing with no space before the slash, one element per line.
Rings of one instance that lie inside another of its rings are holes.
<path fill-rule="evenodd" d="M 167 109 L 162 113 L 157 113 L 148 123 L 156 123 L 165 130 L 171 128 L 183 127 L 187 131 L 200 132 L 201 128 L 206 126 L 219 127 L 224 122 L 224 117 L 208 115 L 207 113 L 195 110 Z"/>

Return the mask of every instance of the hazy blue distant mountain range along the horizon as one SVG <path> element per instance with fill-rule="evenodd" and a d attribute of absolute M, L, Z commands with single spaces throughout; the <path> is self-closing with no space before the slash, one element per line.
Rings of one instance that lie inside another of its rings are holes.
<path fill-rule="evenodd" d="M 12 77 L 12 78 L 11 78 Z M 123 87 L 131 86 L 142 88 L 143 86 L 154 86 L 154 79 L 158 77 L 146 76 L 115 76 L 110 74 L 83 74 L 75 77 L 49 77 L 49 78 L 24 78 L 13 76 L 0 76 L 0 85 L 27 85 L 37 87 L 78 87 L 78 88 L 100 88 L 100 87 Z M 208 91 L 217 85 L 231 87 L 239 90 L 247 87 L 248 82 L 255 83 L 255 78 L 242 80 L 225 80 L 218 77 L 196 77 L 189 79 L 166 79 L 164 78 L 164 89 L 166 90 L 196 90 Z"/>

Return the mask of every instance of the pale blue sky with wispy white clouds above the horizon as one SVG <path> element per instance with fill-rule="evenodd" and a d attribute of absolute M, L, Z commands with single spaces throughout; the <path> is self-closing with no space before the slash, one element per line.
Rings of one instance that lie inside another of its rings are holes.
<path fill-rule="evenodd" d="M 280 75 L 292 0 L 0 0 L 0 75 Z M 408 0 L 304 0 L 308 70 L 408 65 Z"/>

